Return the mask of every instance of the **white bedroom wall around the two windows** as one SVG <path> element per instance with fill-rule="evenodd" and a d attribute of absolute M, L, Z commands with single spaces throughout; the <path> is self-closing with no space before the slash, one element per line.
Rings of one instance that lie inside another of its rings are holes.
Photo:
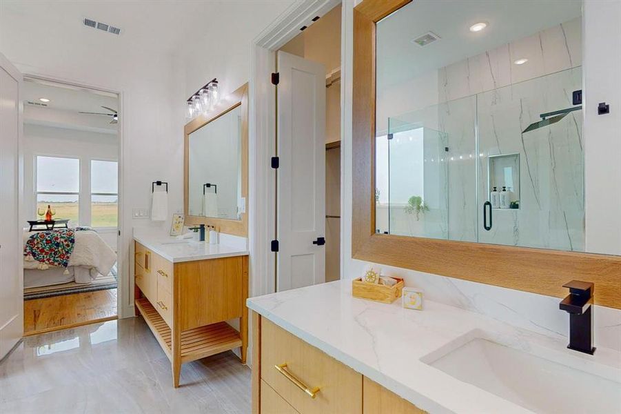
<path fill-rule="evenodd" d="M 49 155 L 80 159 L 81 193 L 90 193 L 90 160 L 103 159 L 117 161 L 119 145 L 116 135 L 81 131 L 52 126 L 26 124 L 23 128 L 23 166 L 24 166 L 24 202 L 23 215 L 26 219 L 36 219 L 37 195 L 34 186 L 35 157 Z M 81 202 L 80 224 L 87 224 L 90 217 L 90 205 Z M 116 228 L 99 230 L 99 235 L 112 249 L 116 250 Z"/>

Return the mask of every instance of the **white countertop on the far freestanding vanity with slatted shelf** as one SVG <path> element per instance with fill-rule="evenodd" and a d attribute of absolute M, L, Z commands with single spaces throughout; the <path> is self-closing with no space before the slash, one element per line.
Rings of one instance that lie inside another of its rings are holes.
<path fill-rule="evenodd" d="M 172 263 L 248 255 L 245 249 L 225 244 L 196 242 L 193 239 L 151 234 L 135 234 L 134 240 Z"/>

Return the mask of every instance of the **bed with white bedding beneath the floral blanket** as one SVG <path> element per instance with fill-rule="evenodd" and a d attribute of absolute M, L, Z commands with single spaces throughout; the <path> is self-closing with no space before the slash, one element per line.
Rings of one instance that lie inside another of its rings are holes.
<path fill-rule="evenodd" d="M 54 230 L 52 230 L 54 231 Z M 23 242 L 39 232 L 24 232 Z M 74 244 L 66 268 L 39 262 L 32 255 L 23 258 L 23 286 L 33 288 L 76 282 L 90 284 L 99 275 L 108 275 L 116 263 L 116 253 L 94 230 L 74 232 Z"/>

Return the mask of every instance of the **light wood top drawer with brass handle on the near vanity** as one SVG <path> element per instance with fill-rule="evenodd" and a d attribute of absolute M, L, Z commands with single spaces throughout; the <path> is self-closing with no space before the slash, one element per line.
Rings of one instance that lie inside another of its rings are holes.
<path fill-rule="evenodd" d="M 261 378 L 302 414 L 363 411 L 362 375 L 265 318 L 261 319 Z M 315 388 L 318 391 L 312 397 Z"/>

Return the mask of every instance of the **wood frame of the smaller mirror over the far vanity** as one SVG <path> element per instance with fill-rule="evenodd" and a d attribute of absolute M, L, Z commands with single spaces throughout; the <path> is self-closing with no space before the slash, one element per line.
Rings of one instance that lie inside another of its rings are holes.
<path fill-rule="evenodd" d="M 214 119 L 225 115 L 227 112 L 241 106 L 241 196 L 246 199 L 246 211 L 241 214 L 241 220 L 218 219 L 216 217 L 193 216 L 189 214 L 189 190 L 188 190 L 188 167 L 190 155 L 188 150 L 190 134 L 199 128 L 209 124 Z M 237 88 L 227 97 L 221 99 L 207 115 L 200 115 L 185 124 L 185 138 L 183 140 L 183 211 L 185 212 L 185 225 L 216 226 L 222 233 L 248 237 L 248 83 Z"/>

